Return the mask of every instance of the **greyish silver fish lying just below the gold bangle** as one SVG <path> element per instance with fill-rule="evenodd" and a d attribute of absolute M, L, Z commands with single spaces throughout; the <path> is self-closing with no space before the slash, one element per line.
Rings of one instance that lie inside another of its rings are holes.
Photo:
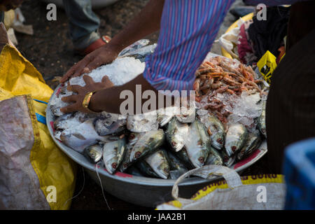
<path fill-rule="evenodd" d="M 100 136 L 114 134 L 125 130 L 126 117 L 116 113 L 102 112 L 101 116 L 94 120 L 95 130 Z"/>

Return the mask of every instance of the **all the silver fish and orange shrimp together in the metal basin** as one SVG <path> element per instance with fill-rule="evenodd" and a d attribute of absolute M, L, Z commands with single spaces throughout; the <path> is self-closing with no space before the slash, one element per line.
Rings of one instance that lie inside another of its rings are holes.
<path fill-rule="evenodd" d="M 52 99 L 55 104 L 50 106 L 55 115 L 54 136 L 85 155 L 90 162 L 101 162 L 110 174 L 125 172 L 136 176 L 177 179 L 195 167 L 230 167 L 253 153 L 266 137 L 265 93 L 262 87 L 245 66 L 235 71 L 231 68 L 224 57 L 202 64 L 196 79 L 196 83 L 199 82 L 197 102 L 200 104 L 184 114 L 179 113 L 181 110 L 175 106 L 133 116 L 106 112 L 99 115 L 56 113 L 62 105 L 59 102 L 61 97 L 70 94 L 65 85 Z M 104 74 L 109 76 L 109 73 Z M 258 105 L 259 114 L 253 118 L 253 124 L 229 123 L 228 117 L 232 112 L 227 114 L 222 102 L 222 105 L 217 101 L 211 102 L 218 97 L 217 94 L 225 91 L 237 97 L 242 91 L 247 92 L 246 97 L 258 93 L 258 99 L 253 99 L 258 100 L 254 104 Z M 207 104 L 202 104 L 204 99 L 207 99 Z M 214 103 L 221 106 L 212 105 Z M 56 108 L 56 105 L 59 107 Z"/>

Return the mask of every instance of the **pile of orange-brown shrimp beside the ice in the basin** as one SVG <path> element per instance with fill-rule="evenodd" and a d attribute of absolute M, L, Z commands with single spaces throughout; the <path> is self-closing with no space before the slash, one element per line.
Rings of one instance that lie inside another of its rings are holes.
<path fill-rule="evenodd" d="M 259 92 L 260 96 L 265 94 L 259 86 L 263 80 L 255 80 L 255 71 L 251 66 L 228 57 L 211 57 L 197 69 L 195 75 L 196 101 L 202 102 L 203 109 L 216 114 L 223 124 L 228 122 L 231 112 L 225 110 L 226 105 L 216 97 L 218 93 L 240 96 L 241 92 L 247 91 L 248 94 Z"/>

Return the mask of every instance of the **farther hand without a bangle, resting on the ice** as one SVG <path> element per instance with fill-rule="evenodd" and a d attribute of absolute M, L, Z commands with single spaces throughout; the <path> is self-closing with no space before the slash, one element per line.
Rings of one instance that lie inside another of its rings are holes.
<path fill-rule="evenodd" d="M 86 55 L 80 62 L 73 65 L 62 77 L 60 83 L 64 83 L 69 78 L 80 76 L 83 73 L 90 73 L 90 71 L 102 64 L 109 64 L 118 57 L 118 54 L 119 50 L 110 45 L 110 43 L 107 43 L 101 48 L 90 52 L 90 54 Z"/>

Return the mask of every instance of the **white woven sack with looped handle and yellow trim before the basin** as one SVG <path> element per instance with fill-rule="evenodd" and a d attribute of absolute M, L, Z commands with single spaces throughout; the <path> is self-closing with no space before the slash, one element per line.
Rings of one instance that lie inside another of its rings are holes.
<path fill-rule="evenodd" d="M 210 183 L 190 199 L 179 197 L 179 183 L 194 175 L 204 179 L 218 176 L 224 180 Z M 174 201 L 160 204 L 158 210 L 280 210 L 284 207 L 286 185 L 282 175 L 239 176 L 235 170 L 218 165 L 192 169 L 176 180 Z"/>

